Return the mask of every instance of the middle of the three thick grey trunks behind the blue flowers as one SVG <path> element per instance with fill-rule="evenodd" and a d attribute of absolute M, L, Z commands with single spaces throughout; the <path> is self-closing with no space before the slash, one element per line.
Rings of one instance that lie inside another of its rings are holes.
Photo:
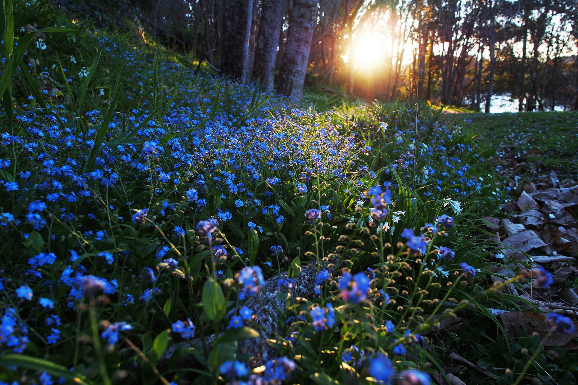
<path fill-rule="evenodd" d="M 253 79 L 261 79 L 263 89 L 272 91 L 279 32 L 283 23 L 284 0 L 262 0 L 261 20 L 255 47 Z"/>

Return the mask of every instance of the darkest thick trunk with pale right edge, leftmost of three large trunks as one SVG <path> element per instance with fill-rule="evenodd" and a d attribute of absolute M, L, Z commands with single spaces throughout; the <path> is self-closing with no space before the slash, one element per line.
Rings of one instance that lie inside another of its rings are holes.
<path fill-rule="evenodd" d="M 253 0 L 226 0 L 223 2 L 223 42 L 221 71 L 244 83 L 247 72 L 247 46 L 251 33 Z"/>

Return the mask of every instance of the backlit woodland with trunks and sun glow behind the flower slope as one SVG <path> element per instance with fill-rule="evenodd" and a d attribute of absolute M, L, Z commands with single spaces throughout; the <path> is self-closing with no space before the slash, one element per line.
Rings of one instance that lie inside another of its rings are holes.
<path fill-rule="evenodd" d="M 310 83 L 486 111 L 502 92 L 520 111 L 578 109 L 576 0 L 129 1 L 165 44 L 292 99 Z M 391 39 L 379 67 L 356 70 L 355 39 L 372 30 Z"/>

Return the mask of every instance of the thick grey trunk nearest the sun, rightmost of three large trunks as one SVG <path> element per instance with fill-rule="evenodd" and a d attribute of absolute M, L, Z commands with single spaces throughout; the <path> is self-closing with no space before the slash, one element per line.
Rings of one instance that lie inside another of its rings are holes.
<path fill-rule="evenodd" d="M 291 9 L 285 57 L 277 91 L 292 100 L 301 99 L 309 51 L 317 18 L 317 0 L 295 0 Z"/>

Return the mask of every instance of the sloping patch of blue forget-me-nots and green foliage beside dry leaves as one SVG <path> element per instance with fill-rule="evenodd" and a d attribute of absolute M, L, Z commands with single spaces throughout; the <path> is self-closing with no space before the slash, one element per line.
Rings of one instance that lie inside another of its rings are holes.
<path fill-rule="evenodd" d="M 1 384 L 450 383 L 458 345 L 487 372 L 468 383 L 549 380 L 543 335 L 491 310 L 552 282 L 494 279 L 481 216 L 512 191 L 475 121 L 292 102 L 23 7 L 3 10 Z"/>

